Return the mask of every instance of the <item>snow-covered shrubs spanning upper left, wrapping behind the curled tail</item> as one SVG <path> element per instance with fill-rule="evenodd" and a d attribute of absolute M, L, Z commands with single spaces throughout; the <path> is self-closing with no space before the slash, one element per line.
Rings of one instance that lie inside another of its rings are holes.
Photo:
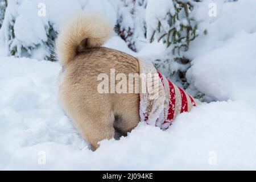
<path fill-rule="evenodd" d="M 0 38 L 9 55 L 55 60 L 53 45 L 61 24 L 77 11 L 95 11 L 115 24 L 117 11 L 108 0 L 11 0 Z"/>

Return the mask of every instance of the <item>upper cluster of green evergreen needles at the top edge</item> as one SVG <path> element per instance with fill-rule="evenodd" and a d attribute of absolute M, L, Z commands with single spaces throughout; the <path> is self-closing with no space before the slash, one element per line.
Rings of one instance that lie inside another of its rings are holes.
<path fill-rule="evenodd" d="M 197 23 L 191 13 L 193 11 L 193 2 L 196 1 L 178 1 L 173 0 L 175 12 L 167 14 L 167 23 L 170 27 L 166 30 L 162 26 L 163 22 L 158 22 L 158 28 L 154 31 L 151 42 L 157 39 L 163 40 L 167 47 L 171 47 L 172 54 L 176 57 L 182 57 L 181 51 L 187 51 L 189 44 L 199 35 Z"/>

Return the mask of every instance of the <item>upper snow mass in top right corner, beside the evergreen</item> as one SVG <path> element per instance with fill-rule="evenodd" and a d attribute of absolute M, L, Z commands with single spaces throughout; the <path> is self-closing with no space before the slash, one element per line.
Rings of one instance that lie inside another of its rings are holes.
<path fill-rule="evenodd" d="M 256 15 L 254 0 L 237 1 L 224 3 L 224 1 L 214 1 L 217 7 L 217 16 L 208 15 L 208 5 L 210 0 L 203 1 L 195 11 L 195 18 L 200 22 L 199 28 L 204 31 L 207 28 L 208 34 L 200 35 L 199 38 L 191 42 L 187 56 L 195 59 L 202 53 L 207 53 L 214 48 L 221 47 L 226 40 L 232 39 L 237 33 L 245 31 L 253 33 L 256 31 L 256 24 L 253 17 Z"/>

